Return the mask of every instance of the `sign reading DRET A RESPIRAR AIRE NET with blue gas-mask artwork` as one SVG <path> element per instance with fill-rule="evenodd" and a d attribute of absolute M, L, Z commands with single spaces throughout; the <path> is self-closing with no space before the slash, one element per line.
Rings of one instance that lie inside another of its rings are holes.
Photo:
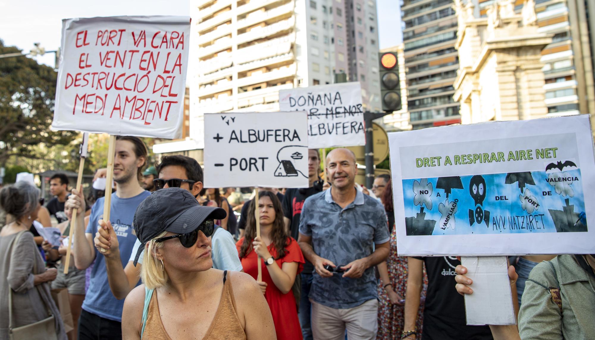
<path fill-rule="evenodd" d="M 588 115 L 391 133 L 389 145 L 400 256 L 595 251 Z"/>

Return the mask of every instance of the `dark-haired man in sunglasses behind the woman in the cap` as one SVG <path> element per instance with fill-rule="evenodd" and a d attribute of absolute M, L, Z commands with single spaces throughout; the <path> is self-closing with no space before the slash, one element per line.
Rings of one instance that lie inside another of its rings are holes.
<path fill-rule="evenodd" d="M 195 159 L 186 156 L 165 156 L 161 164 L 157 166 L 159 178 L 154 180 L 155 190 L 168 190 L 168 188 L 182 188 L 190 192 L 196 198 L 202 190 L 202 168 Z M 120 253 L 118 253 L 118 240 L 114 237 L 114 229 L 108 226 L 99 229 L 95 237 L 95 247 L 105 249 L 105 258 L 108 262 L 120 263 Z M 242 263 L 237 256 L 236 243 L 231 234 L 223 228 L 214 225 L 214 231 L 208 236 L 212 237 L 212 261 L 215 269 L 242 271 Z M 177 236 L 176 236 L 177 237 Z M 180 241 L 184 243 L 184 238 Z M 196 239 L 194 240 L 196 241 Z M 194 243 L 192 243 L 194 244 Z M 142 245 L 136 240 L 130 259 L 126 267 L 108 266 L 109 287 L 112 293 L 118 299 L 123 299 L 128 293 L 136 287 L 140 266 L 143 263 L 143 253 L 139 248 Z M 136 254 L 140 253 L 138 263 L 134 266 Z"/>

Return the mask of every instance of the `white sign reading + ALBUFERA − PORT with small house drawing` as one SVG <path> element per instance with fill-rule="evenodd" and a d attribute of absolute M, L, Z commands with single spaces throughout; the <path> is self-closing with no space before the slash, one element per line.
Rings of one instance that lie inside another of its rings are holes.
<path fill-rule="evenodd" d="M 205 187 L 308 187 L 306 112 L 205 114 Z"/>

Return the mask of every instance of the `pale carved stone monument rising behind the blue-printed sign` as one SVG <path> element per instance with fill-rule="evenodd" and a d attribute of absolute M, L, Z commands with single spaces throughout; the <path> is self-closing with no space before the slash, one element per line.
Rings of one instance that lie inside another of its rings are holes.
<path fill-rule="evenodd" d="M 541 118 L 547 115 L 541 50 L 553 34 L 537 32 L 534 1 L 515 14 L 514 1 L 496 1 L 475 18 L 471 1 L 455 0 L 459 71 L 453 98 L 461 123 Z"/>

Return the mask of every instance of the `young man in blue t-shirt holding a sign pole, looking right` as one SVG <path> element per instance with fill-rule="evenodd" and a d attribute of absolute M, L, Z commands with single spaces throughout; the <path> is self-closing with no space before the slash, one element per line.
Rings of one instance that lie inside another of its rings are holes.
<path fill-rule="evenodd" d="M 140 187 L 141 170 L 145 166 L 147 149 L 138 137 L 118 136 L 115 142 L 114 181 L 116 192 L 111 196 L 111 212 L 109 222 L 117 235 L 118 251 L 122 259 L 128 259 L 136 234 L 132 226 L 137 206 L 151 193 Z M 110 185 L 110 184 L 108 184 Z M 73 190 L 66 203 L 68 206 L 84 209 L 81 193 Z M 84 211 L 84 210 L 83 210 Z M 84 298 L 83 311 L 79 319 L 80 340 L 86 339 L 121 339 L 121 320 L 124 300 L 117 300 L 109 289 L 108 268 L 105 257 L 95 249 L 93 238 L 103 222 L 104 197 L 98 199 L 91 209 L 89 224 L 83 232 L 84 214 L 77 215 L 74 229 L 74 265 L 78 269 L 86 269 L 95 260 L 91 272 L 89 289 Z M 108 223 L 109 225 L 109 223 Z M 121 261 L 122 268 L 127 261 Z M 136 276 L 138 278 L 138 276 Z M 139 280 L 136 279 L 136 284 Z"/>

